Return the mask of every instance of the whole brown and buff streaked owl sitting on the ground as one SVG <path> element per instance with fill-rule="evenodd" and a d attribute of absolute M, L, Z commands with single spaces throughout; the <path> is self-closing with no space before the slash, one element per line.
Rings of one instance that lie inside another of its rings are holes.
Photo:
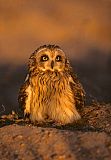
<path fill-rule="evenodd" d="M 64 51 L 57 45 L 44 45 L 32 53 L 28 74 L 18 96 L 24 116 L 31 122 L 52 120 L 62 125 L 81 118 L 84 89 Z"/>

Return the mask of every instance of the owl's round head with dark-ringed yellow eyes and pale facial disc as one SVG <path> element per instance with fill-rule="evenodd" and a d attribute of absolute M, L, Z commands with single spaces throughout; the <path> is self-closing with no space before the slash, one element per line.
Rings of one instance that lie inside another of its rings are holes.
<path fill-rule="evenodd" d="M 31 55 L 29 68 L 37 68 L 40 71 L 61 72 L 65 69 L 67 63 L 66 56 L 59 46 L 44 45 Z"/>

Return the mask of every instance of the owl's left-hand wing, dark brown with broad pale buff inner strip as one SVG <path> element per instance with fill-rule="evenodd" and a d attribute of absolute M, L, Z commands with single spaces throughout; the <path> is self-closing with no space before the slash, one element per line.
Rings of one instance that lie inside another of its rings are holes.
<path fill-rule="evenodd" d="M 18 102 L 19 107 L 24 110 L 24 115 L 30 114 L 31 86 L 29 83 L 29 75 L 27 75 L 24 84 L 19 90 Z"/>

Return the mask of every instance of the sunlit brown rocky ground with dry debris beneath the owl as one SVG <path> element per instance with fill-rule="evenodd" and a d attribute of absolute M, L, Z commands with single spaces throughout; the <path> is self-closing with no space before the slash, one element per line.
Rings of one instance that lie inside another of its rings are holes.
<path fill-rule="evenodd" d="M 76 124 L 30 124 L 12 112 L 0 119 L 0 159 L 111 160 L 111 105 L 93 103 Z"/>

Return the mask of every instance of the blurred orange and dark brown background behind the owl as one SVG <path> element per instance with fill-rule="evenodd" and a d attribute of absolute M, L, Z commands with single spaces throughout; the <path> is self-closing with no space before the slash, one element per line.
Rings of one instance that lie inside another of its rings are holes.
<path fill-rule="evenodd" d="M 87 103 L 111 102 L 111 0 L 0 0 L 0 113 L 18 110 L 30 54 L 57 44 Z"/>

